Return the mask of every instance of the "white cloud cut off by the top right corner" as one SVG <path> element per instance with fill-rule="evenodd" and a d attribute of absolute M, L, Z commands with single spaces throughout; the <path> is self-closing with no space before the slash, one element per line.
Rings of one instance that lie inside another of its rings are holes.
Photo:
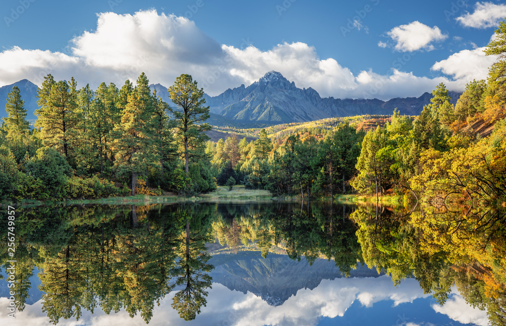
<path fill-rule="evenodd" d="M 474 13 L 466 13 L 455 19 L 467 27 L 487 28 L 497 27 L 504 17 L 506 17 L 506 4 L 477 2 Z"/>

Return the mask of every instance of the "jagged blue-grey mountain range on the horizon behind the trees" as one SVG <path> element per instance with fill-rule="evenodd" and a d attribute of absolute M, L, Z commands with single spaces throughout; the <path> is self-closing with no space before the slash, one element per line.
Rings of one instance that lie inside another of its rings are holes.
<path fill-rule="evenodd" d="M 21 91 L 28 110 L 27 119 L 36 119 L 33 111 L 37 106 L 37 86 L 27 79 L 0 88 L 0 115 L 7 116 L 5 104 L 7 95 L 14 86 Z M 160 84 L 151 84 L 152 90 L 169 105 L 174 105 L 169 98 L 167 88 Z M 461 93 L 449 92 L 451 102 L 455 104 Z M 222 94 L 210 97 L 204 94 L 206 105 L 211 112 L 213 125 L 250 124 L 277 125 L 282 123 L 306 122 L 329 117 L 343 117 L 362 114 L 390 115 L 395 108 L 401 114 L 418 115 L 424 106 L 430 103 L 431 93 L 424 93 L 418 98 L 395 98 L 389 101 L 378 99 L 334 99 L 321 98 L 312 88 L 297 88 L 276 71 L 267 72 L 255 83 L 245 87 L 241 85 L 228 89 Z M 3 114 L 2 114 L 3 113 Z"/>

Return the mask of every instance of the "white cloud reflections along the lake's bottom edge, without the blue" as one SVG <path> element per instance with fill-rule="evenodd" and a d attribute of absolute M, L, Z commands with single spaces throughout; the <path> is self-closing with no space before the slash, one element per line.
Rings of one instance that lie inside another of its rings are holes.
<path fill-rule="evenodd" d="M 238 291 L 230 291 L 219 283 L 214 283 L 209 289 L 207 306 L 202 307 L 201 313 L 191 322 L 181 319 L 172 307 L 174 293 L 167 295 L 160 306 L 154 307 L 153 318 L 149 325 L 245 325 L 257 326 L 264 324 L 272 325 L 315 325 L 320 317 L 333 318 L 343 316 L 346 310 L 358 300 L 362 306 L 372 307 L 374 303 L 383 300 L 392 300 L 393 306 L 401 303 L 412 302 L 417 298 L 426 298 L 423 290 L 419 288 L 415 279 L 405 279 L 398 288 L 392 284 L 388 276 L 377 278 L 338 278 L 334 280 L 322 280 L 314 290 L 302 289 L 297 295 L 291 296 L 281 306 L 268 305 L 260 297 L 252 293 L 244 295 Z M 7 317 L 7 300 L 0 299 L 0 324 L 13 326 L 24 325 L 48 325 L 49 319 L 41 311 L 42 304 L 37 302 L 32 306 L 26 305 L 23 312 L 16 313 L 16 319 Z M 472 309 L 459 295 L 454 295 L 448 302 L 440 307 L 434 305 L 433 309 L 448 315 L 459 322 L 474 322 L 479 325 L 487 324 L 484 311 Z M 411 326 L 416 323 L 408 323 Z M 119 313 L 105 314 L 97 309 L 94 314 L 82 311 L 78 321 L 75 318 L 69 320 L 60 319 L 60 326 L 74 325 L 111 325 L 111 326 L 138 326 L 145 325 L 138 314 L 130 318 L 122 309 Z M 427 323 L 423 323 L 424 326 Z"/>

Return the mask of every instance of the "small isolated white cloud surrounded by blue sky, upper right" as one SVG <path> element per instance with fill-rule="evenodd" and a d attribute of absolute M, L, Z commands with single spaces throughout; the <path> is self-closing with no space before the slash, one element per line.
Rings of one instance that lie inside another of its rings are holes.
<path fill-rule="evenodd" d="M 401 52 L 431 51 L 434 50 L 432 42 L 440 42 L 448 37 L 441 32 L 439 27 L 431 28 L 419 21 L 394 27 L 387 32 L 387 35 L 397 42 L 395 50 Z"/>

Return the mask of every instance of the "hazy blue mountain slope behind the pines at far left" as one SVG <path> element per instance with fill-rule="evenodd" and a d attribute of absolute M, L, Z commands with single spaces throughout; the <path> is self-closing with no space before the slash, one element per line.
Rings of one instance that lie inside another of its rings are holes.
<path fill-rule="evenodd" d="M 7 97 L 9 93 L 12 91 L 12 88 L 14 86 L 17 86 L 19 88 L 21 99 L 25 100 L 25 109 L 27 110 L 26 119 L 30 121 L 30 124 L 33 124 L 37 119 L 37 117 L 34 114 L 34 111 L 38 109 L 37 85 L 33 84 L 28 79 L 23 79 L 17 81 L 14 84 L 0 87 L 0 117 L 8 116 L 8 113 L 5 110 L 5 105 L 7 104 Z"/>

